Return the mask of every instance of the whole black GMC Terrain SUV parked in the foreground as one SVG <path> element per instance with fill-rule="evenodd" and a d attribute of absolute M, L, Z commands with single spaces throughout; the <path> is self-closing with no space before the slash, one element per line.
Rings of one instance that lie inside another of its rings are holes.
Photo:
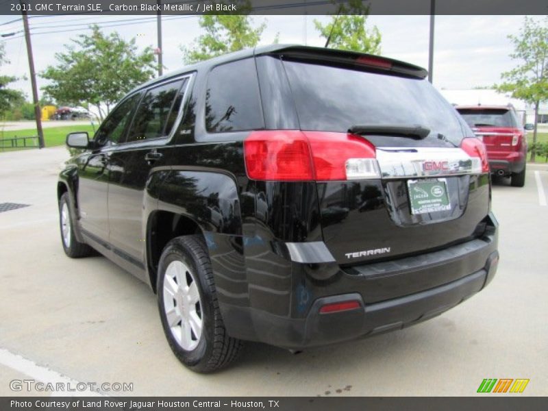
<path fill-rule="evenodd" d="M 449 310 L 493 279 L 498 224 L 484 145 L 426 75 L 271 45 L 143 84 L 66 138 L 64 251 L 149 284 L 199 372 Z"/>

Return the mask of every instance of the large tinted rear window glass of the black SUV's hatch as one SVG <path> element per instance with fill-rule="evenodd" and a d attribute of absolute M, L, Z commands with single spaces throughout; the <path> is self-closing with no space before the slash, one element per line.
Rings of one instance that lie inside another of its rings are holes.
<path fill-rule="evenodd" d="M 458 115 L 424 79 L 306 62 L 286 61 L 284 66 L 301 129 L 347 132 L 352 125 L 421 125 L 430 129 L 425 145 L 439 145 L 444 137 L 460 145 Z"/>

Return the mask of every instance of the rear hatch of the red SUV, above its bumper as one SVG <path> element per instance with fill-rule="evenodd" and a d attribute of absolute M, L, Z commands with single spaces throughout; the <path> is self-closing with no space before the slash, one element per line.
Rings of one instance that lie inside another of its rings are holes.
<path fill-rule="evenodd" d="M 519 149 L 521 127 L 510 108 L 457 108 L 476 136 L 481 138 L 487 153 Z"/>

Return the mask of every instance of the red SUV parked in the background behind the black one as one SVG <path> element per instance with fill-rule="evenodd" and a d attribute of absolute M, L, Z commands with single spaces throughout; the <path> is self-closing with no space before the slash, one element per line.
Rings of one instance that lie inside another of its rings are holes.
<path fill-rule="evenodd" d="M 456 109 L 482 138 L 491 173 L 510 177 L 512 186 L 523 187 L 527 138 L 512 105 L 459 105 Z"/>

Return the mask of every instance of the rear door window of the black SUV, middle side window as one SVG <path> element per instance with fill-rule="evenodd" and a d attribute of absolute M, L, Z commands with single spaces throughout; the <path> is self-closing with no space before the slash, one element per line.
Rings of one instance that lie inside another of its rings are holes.
<path fill-rule="evenodd" d="M 181 107 L 184 80 L 162 84 L 147 91 L 139 103 L 127 141 L 149 140 L 171 131 Z"/>

